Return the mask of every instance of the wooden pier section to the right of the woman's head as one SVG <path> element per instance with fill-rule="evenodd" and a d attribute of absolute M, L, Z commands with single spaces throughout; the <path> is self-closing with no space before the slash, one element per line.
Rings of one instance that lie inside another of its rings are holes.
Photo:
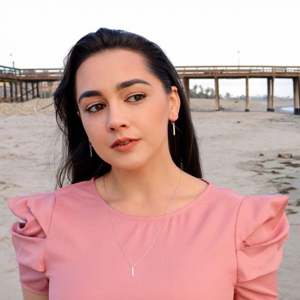
<path fill-rule="evenodd" d="M 249 111 L 249 78 L 266 78 L 267 111 L 274 111 L 274 78 L 290 78 L 293 81 L 294 114 L 300 114 L 300 66 L 177 66 L 176 70 L 185 90 L 189 90 L 189 79 L 214 78 L 215 110 L 220 110 L 219 78 L 245 78 L 245 111 Z"/>

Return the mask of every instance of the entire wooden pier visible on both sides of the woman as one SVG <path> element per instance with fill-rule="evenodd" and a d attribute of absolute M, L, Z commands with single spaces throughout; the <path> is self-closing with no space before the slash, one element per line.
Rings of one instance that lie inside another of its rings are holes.
<path fill-rule="evenodd" d="M 249 111 L 249 78 L 267 80 L 267 111 L 274 111 L 274 78 L 293 81 L 294 114 L 300 114 L 300 66 L 177 66 L 176 70 L 186 91 L 189 79 L 214 78 L 215 110 L 220 110 L 219 78 L 245 78 L 245 111 Z M 0 65 L 0 97 L 10 101 L 23 101 L 39 97 L 38 83 L 58 81 L 63 69 L 18 69 Z"/>

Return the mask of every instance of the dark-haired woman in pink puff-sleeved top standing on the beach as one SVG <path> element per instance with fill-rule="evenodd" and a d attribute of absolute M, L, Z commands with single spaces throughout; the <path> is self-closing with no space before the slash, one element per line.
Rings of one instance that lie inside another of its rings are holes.
<path fill-rule="evenodd" d="M 83 36 L 54 104 L 60 188 L 8 200 L 25 221 L 10 229 L 24 299 L 277 298 L 288 197 L 202 178 L 186 94 L 156 44 Z"/>

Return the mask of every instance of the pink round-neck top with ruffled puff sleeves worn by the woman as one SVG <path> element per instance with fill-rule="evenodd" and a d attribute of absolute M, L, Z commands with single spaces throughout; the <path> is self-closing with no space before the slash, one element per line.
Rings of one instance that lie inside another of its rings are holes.
<path fill-rule="evenodd" d="M 242 196 L 199 179 L 208 183 L 206 189 L 167 214 L 133 277 L 94 178 L 9 199 L 11 211 L 24 220 L 10 228 L 21 285 L 49 294 L 50 300 L 277 299 L 288 197 Z M 123 250 L 134 264 L 163 216 L 111 211 Z"/>

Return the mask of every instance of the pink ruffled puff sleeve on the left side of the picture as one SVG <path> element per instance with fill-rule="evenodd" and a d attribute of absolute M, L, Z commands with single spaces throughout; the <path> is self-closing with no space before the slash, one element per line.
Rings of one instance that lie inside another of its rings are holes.
<path fill-rule="evenodd" d="M 20 283 L 30 291 L 48 294 L 44 249 L 55 194 L 49 192 L 18 196 L 8 199 L 7 204 L 12 213 L 24 221 L 13 223 L 9 230 L 19 265 Z"/>

